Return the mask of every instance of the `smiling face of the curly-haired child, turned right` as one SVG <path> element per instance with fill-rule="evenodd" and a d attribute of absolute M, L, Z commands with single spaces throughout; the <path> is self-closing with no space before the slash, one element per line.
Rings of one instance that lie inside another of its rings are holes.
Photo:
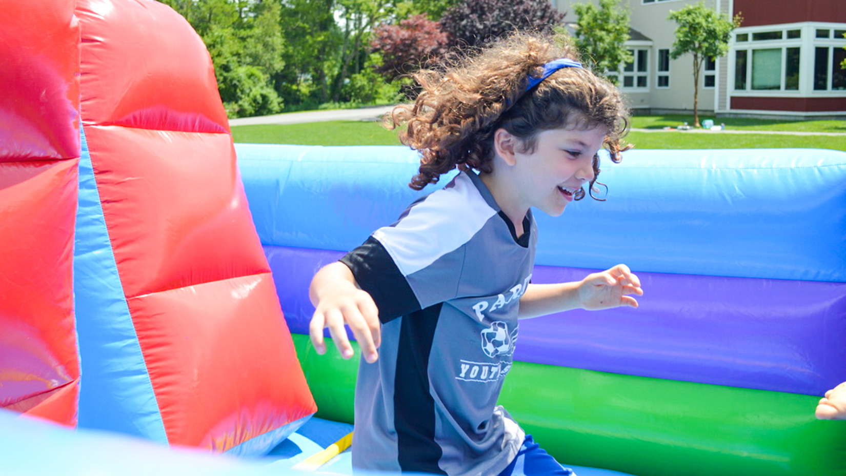
<path fill-rule="evenodd" d="M 593 157 L 602 148 L 605 126 L 544 130 L 532 152 L 515 151 L 514 179 L 524 205 L 557 217 L 573 195 L 593 179 Z"/>

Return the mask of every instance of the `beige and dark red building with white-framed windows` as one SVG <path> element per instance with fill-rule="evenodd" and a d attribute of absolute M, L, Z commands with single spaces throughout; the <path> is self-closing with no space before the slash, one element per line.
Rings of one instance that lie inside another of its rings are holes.
<path fill-rule="evenodd" d="M 552 0 L 575 22 L 571 5 Z M 667 19 L 698 0 L 621 0 L 628 5 L 634 62 L 619 72 L 620 89 L 641 113 L 693 110 L 693 58 L 671 60 L 676 23 Z M 700 73 L 700 113 L 719 116 L 846 117 L 846 0 L 702 0 L 743 22 L 726 56 Z"/>

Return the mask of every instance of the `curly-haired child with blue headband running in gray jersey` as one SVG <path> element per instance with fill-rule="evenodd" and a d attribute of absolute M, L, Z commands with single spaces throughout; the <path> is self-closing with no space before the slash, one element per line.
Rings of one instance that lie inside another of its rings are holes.
<path fill-rule="evenodd" d="M 408 125 L 402 141 L 422 156 L 412 188 L 460 173 L 311 282 L 316 351 L 326 351 L 328 328 L 352 357 L 348 324 L 362 352 L 354 468 L 572 473 L 497 397 L 518 318 L 637 307 L 631 295 L 643 294 L 622 264 L 580 282 L 530 284 L 530 207 L 558 216 L 585 196 L 583 185 L 592 191 L 597 152 L 606 147 L 618 162 L 628 128 L 618 91 L 574 57 L 555 38 L 514 34 L 446 72 L 421 72 L 415 102 L 393 110 L 393 126 Z"/>

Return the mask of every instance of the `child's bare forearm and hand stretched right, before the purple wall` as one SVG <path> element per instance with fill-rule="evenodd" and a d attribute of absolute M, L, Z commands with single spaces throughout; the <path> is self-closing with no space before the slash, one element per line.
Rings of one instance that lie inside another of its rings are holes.
<path fill-rule="evenodd" d="M 520 298 L 519 318 L 536 318 L 570 309 L 637 307 L 634 297 L 643 296 L 640 280 L 625 264 L 588 274 L 584 280 L 554 285 L 529 285 Z"/>

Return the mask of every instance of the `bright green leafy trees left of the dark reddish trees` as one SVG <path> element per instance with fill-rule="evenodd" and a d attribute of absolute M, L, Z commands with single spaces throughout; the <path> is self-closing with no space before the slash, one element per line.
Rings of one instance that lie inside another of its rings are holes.
<path fill-rule="evenodd" d="M 230 116 L 391 101 L 375 25 L 439 15 L 459 0 L 161 0 L 206 43 Z"/>

